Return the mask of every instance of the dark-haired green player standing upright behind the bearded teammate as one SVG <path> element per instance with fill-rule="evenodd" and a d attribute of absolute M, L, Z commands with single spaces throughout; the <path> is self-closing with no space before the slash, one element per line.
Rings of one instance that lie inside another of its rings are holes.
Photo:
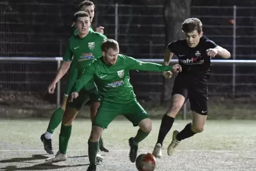
<path fill-rule="evenodd" d="M 67 90 L 67 94 L 70 93 L 75 80 L 80 78 L 83 71 L 93 61 L 92 59 L 101 56 L 101 43 L 106 39 L 106 36 L 101 33 L 89 30 L 90 19 L 87 12 L 76 12 L 74 15 L 74 22 L 75 27 L 78 30 L 78 35 L 69 39 L 69 45 L 63 57 L 66 62 L 72 61 L 68 86 L 69 90 Z M 89 98 L 93 101 L 100 100 L 100 95 L 93 80 L 84 85 L 80 93 L 80 98 L 73 102 L 67 102 L 63 116 L 68 116 L 68 119 L 66 117 L 62 118 L 61 132 L 59 133 L 59 151 L 55 157 L 50 157 L 46 159 L 46 161 L 57 162 L 67 159 L 67 144 L 71 135 L 72 122 L 76 114 L 84 104 L 86 104 Z M 100 155 L 98 155 L 98 159 L 100 161 L 103 160 Z"/>

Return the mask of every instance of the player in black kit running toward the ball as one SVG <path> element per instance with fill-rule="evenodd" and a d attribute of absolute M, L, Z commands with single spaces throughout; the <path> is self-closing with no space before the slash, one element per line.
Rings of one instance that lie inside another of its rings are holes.
<path fill-rule="evenodd" d="M 186 138 L 203 131 L 208 113 L 208 79 L 210 74 L 211 57 L 216 55 L 229 58 L 231 54 L 224 48 L 203 36 L 202 22 L 197 18 L 186 19 L 182 23 L 185 39 L 171 42 L 166 47 L 164 65 L 169 65 L 170 58 L 175 54 L 182 72 L 178 73 L 174 81 L 172 104 L 163 116 L 158 134 L 158 140 L 153 155 L 160 158 L 161 148 L 166 134 L 172 128 L 174 118 L 189 99 L 192 110 L 192 123 L 187 124 L 180 132 L 173 132 L 173 140 L 168 146 L 171 156 L 177 145 Z M 163 72 L 165 78 L 172 77 L 171 72 Z"/>

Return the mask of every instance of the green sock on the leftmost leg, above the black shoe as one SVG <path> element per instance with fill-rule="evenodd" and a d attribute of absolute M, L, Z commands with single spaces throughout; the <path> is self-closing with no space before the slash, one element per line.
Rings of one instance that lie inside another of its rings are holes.
<path fill-rule="evenodd" d="M 58 125 L 61 123 L 63 114 L 64 114 L 64 110 L 61 107 L 58 107 L 54 111 L 52 117 L 50 117 L 50 122 L 47 128 L 47 132 L 51 134 L 54 132 L 56 127 L 58 127 Z"/>

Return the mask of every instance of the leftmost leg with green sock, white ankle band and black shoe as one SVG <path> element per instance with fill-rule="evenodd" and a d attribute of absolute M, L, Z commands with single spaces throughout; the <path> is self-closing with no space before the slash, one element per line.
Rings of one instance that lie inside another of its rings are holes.
<path fill-rule="evenodd" d="M 44 143 L 44 149 L 49 154 L 53 154 L 52 138 L 53 132 L 62 121 L 62 116 L 66 109 L 67 96 L 63 96 L 62 105 L 59 106 L 50 117 L 50 122 L 47 127 L 47 131 L 41 135 L 41 141 Z"/>

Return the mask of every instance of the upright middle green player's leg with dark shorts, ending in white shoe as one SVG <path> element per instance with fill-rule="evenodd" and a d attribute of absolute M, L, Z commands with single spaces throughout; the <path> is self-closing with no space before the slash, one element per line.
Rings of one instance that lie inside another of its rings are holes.
<path fill-rule="evenodd" d="M 84 104 L 86 104 L 88 100 L 89 96 L 87 95 L 87 91 L 82 89 L 79 92 L 78 98 L 74 99 L 73 102 L 67 101 L 66 109 L 62 117 L 61 132 L 59 133 L 59 150 L 55 157 L 47 158 L 46 161 L 57 162 L 67 159 L 66 151 L 67 144 L 69 143 L 71 136 L 72 123 L 76 114 L 78 114 L 79 110 L 84 106 Z"/>

